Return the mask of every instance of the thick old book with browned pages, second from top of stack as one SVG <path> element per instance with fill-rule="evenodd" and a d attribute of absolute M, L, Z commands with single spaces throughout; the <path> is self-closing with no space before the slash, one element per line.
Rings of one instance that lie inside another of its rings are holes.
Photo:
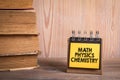
<path fill-rule="evenodd" d="M 38 34 L 34 10 L 0 10 L 0 35 Z"/>

